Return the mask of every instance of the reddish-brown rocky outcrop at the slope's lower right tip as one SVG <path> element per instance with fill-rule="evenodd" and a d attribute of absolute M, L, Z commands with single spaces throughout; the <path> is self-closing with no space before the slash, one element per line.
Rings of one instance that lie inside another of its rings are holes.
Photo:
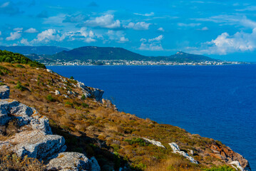
<path fill-rule="evenodd" d="M 213 157 L 217 157 L 220 160 L 229 164 L 232 163 L 232 165 L 235 165 L 236 163 L 236 165 L 238 166 L 239 164 L 243 168 L 243 170 L 251 170 L 249 162 L 244 157 L 242 157 L 242 155 L 231 150 L 230 147 L 222 147 L 216 142 L 210 145 L 210 149 L 213 151 Z"/>

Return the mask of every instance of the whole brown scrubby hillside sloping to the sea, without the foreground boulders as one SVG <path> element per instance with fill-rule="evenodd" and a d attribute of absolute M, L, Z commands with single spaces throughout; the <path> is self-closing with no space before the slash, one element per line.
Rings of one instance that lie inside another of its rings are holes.
<path fill-rule="evenodd" d="M 230 163 L 250 170 L 244 157 L 219 141 L 118 112 L 101 99 L 102 90 L 44 68 L 0 65 L 1 84 L 10 87 L 10 98 L 46 116 L 53 134 L 65 138 L 67 152 L 96 157 L 101 170 L 204 170 Z M 0 141 L 14 135 L 12 128 L 11 123 L 0 128 L 6 129 Z"/>

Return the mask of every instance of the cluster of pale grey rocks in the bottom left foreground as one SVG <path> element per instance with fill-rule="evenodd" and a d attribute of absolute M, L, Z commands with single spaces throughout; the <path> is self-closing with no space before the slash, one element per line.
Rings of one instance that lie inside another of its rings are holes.
<path fill-rule="evenodd" d="M 19 133 L 0 141 L 0 150 L 7 147 L 19 157 L 34 157 L 48 162 L 48 170 L 93 170 L 101 168 L 94 157 L 91 160 L 78 152 L 64 152 L 65 139 L 52 135 L 48 118 L 34 108 L 9 99 L 9 87 L 0 86 L 0 125 L 17 120 Z"/>

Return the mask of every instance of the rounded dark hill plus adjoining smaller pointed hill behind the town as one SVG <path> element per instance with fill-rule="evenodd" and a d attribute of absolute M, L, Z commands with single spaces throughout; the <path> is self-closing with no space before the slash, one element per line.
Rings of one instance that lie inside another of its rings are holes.
<path fill-rule="evenodd" d="M 62 51 L 53 56 L 48 56 L 53 60 L 65 61 L 86 61 L 86 60 L 127 60 L 127 61 L 177 61 L 177 62 L 199 62 L 199 61 L 217 61 L 216 59 L 207 56 L 194 55 L 184 52 L 178 52 L 172 56 L 143 56 L 124 48 L 112 47 L 96 47 L 84 46 L 81 48 L 74 48 L 71 51 Z"/>

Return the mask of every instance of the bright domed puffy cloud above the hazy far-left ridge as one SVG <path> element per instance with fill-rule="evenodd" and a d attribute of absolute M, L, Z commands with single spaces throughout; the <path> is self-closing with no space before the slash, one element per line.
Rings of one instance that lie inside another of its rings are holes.
<path fill-rule="evenodd" d="M 42 31 L 39 33 L 36 38 L 33 40 L 34 42 L 43 42 L 48 43 L 49 41 L 63 41 L 65 35 L 60 36 L 55 29 L 49 28 L 46 31 Z"/>

